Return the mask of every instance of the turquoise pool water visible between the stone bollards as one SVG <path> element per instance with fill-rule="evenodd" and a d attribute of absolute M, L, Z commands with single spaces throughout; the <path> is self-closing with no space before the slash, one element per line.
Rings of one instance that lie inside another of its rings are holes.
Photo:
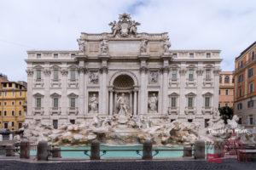
<path fill-rule="evenodd" d="M 161 149 L 163 151 L 161 151 Z M 90 150 L 90 146 L 62 146 L 61 150 Z M 142 151 L 139 152 L 140 155 L 137 154 L 136 150 L 143 150 L 143 145 L 132 145 L 132 146 L 109 146 L 109 145 L 101 145 L 101 150 L 107 150 L 107 153 L 103 155 L 101 151 L 101 159 L 141 159 L 143 155 Z M 115 150 L 115 151 L 108 151 L 108 150 Z M 120 150 L 120 151 L 116 151 Z M 125 151 L 126 150 L 126 151 Z M 134 151 L 131 151 L 134 150 Z M 183 146 L 176 146 L 176 147 L 153 147 L 153 153 L 155 154 L 154 150 L 160 150 L 157 155 L 154 156 L 155 159 L 160 158 L 177 158 L 183 156 Z M 166 151 L 167 150 L 167 151 Z M 174 151 L 175 150 L 175 151 Z M 207 150 L 206 150 L 207 152 Z M 208 150 L 208 153 L 212 153 L 212 150 Z M 90 151 L 87 153 L 90 155 Z M 36 156 L 36 150 L 31 151 L 31 156 Z M 83 151 L 61 151 L 62 158 L 77 158 L 77 159 L 90 159 L 89 156 L 84 155 Z"/>

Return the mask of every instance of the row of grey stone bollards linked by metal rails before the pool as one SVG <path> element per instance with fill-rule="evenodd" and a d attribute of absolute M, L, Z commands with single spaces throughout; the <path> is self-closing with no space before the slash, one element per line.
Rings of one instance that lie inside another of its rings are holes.
<path fill-rule="evenodd" d="M 0 149 L 1 150 L 1 149 Z M 90 160 L 100 160 L 102 156 L 109 152 L 135 152 L 137 156 L 141 156 L 143 160 L 152 160 L 154 156 L 157 156 L 160 152 L 170 151 L 183 151 L 184 157 L 193 157 L 195 159 L 205 158 L 205 143 L 203 141 L 197 141 L 193 145 L 186 145 L 183 149 L 161 149 L 153 148 L 153 144 L 150 141 L 143 143 L 142 149 L 103 149 L 101 150 L 101 144 L 98 141 L 94 141 L 90 144 L 90 149 L 85 150 L 61 150 L 59 147 L 51 147 L 46 141 L 40 141 L 37 145 L 30 144 L 28 141 L 21 141 L 20 144 L 8 144 L 3 150 L 6 151 L 6 156 L 20 156 L 20 158 L 30 158 L 31 150 L 37 150 L 38 161 L 48 161 L 51 158 L 61 158 L 61 152 L 84 152 L 85 156 L 89 156 Z M 89 154 L 90 153 L 90 154 Z"/>

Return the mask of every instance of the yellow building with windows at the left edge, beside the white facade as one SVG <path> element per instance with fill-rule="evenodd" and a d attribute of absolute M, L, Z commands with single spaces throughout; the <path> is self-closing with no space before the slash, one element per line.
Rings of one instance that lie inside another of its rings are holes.
<path fill-rule="evenodd" d="M 26 85 L 19 82 L 0 83 L 0 128 L 18 130 L 25 121 Z"/>

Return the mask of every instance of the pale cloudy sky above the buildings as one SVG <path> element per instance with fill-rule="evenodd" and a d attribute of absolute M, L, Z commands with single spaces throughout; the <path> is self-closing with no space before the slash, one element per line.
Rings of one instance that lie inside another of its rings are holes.
<path fill-rule="evenodd" d="M 0 0 L 0 73 L 26 81 L 27 50 L 76 50 L 80 32 L 108 32 L 125 12 L 138 32 L 168 32 L 171 49 L 220 49 L 222 71 L 256 41 L 255 0 Z"/>

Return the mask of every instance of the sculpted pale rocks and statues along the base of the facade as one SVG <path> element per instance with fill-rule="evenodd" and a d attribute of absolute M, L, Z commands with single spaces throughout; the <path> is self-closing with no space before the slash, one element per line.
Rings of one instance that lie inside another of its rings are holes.
<path fill-rule="evenodd" d="M 218 112 L 207 128 L 201 128 L 196 122 L 171 122 L 167 116 L 157 122 L 143 116 L 126 118 L 124 124 L 119 121 L 119 116 L 95 116 L 91 122 L 61 125 L 58 129 L 33 122 L 24 127 L 24 136 L 33 142 L 47 140 L 55 145 L 90 144 L 94 139 L 104 144 L 142 144 L 146 139 L 150 139 L 154 144 L 166 145 L 192 144 L 197 139 L 229 139 L 234 130 L 244 130 L 238 126 L 237 116 L 225 125 Z M 256 140 L 255 133 L 238 133 L 238 136 L 245 142 L 252 143 Z"/>

